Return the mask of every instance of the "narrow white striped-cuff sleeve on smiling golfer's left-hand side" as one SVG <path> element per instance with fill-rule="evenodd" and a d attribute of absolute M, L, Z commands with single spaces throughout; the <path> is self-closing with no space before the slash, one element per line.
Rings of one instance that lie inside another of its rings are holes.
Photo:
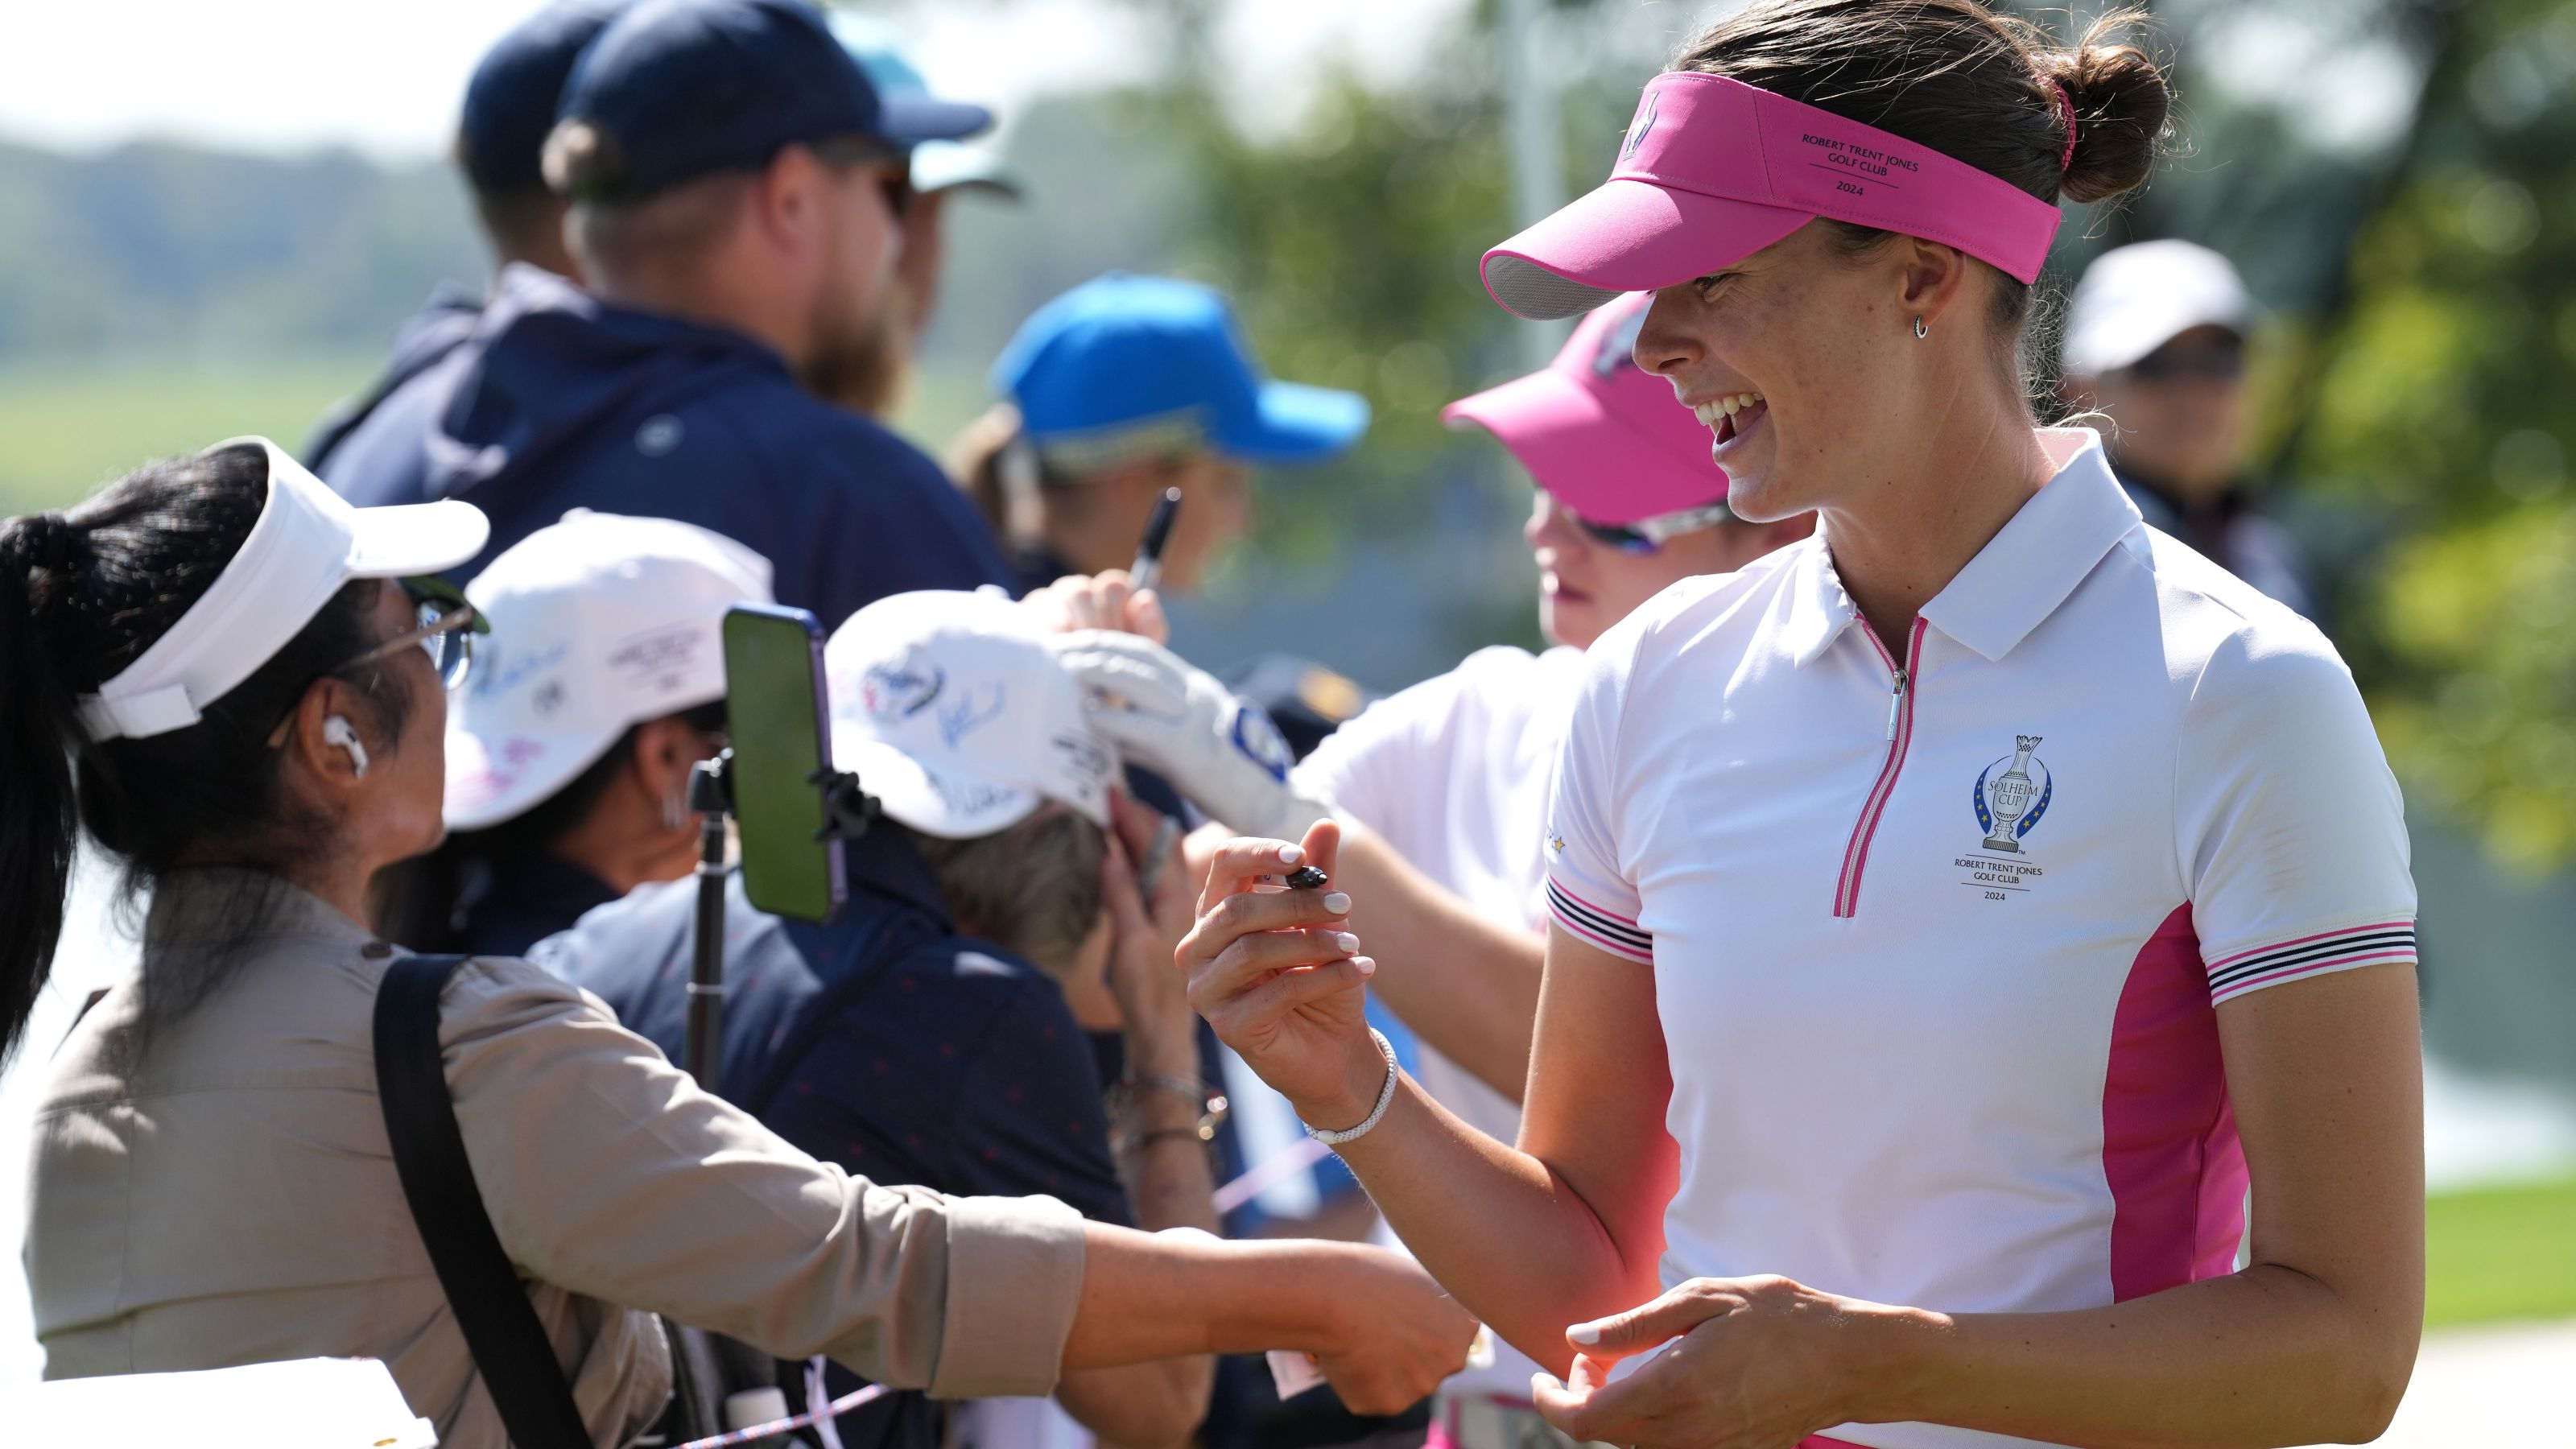
<path fill-rule="evenodd" d="M 1618 717 L 1633 637 L 1602 637 L 1584 657 L 1574 722 L 1548 794 L 1548 915 L 1577 941 L 1654 964 L 1654 936 L 1638 926 L 1636 884 L 1618 851 Z M 1620 647 L 1628 645 L 1628 647 Z"/>

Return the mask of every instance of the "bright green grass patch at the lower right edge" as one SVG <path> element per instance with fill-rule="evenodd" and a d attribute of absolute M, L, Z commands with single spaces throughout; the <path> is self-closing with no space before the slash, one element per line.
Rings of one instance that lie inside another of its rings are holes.
<path fill-rule="evenodd" d="M 2424 1325 L 2576 1318 L 2576 1178 L 2424 1201 Z"/>

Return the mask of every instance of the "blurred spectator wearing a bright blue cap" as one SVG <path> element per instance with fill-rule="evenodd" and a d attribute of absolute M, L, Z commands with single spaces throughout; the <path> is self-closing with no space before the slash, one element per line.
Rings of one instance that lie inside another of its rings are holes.
<path fill-rule="evenodd" d="M 1324 462 L 1368 431 L 1355 392 L 1265 382 L 1226 299 L 1108 273 L 1056 297 L 992 364 L 1005 405 L 958 438 L 958 477 L 1023 588 L 1123 570 L 1167 487 L 1162 583 L 1188 593 L 1249 523 L 1247 464 Z"/>

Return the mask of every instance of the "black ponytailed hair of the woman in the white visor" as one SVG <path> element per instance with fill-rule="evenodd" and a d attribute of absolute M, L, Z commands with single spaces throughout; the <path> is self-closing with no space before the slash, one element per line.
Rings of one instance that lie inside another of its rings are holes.
<path fill-rule="evenodd" d="M 332 848 L 335 822 L 296 812 L 268 735 L 317 678 L 379 642 L 384 585 L 358 580 L 185 730 L 90 743 L 77 699 L 152 647 L 242 549 L 268 505 L 260 446 L 144 464 L 64 513 L 0 523 L 0 1060 L 54 969 L 80 828 L 124 864 L 129 890 L 180 864 L 286 871 Z M 399 740 L 402 676 L 350 678 Z M 258 902 L 255 902 L 258 905 Z M 224 920 L 198 975 L 147 980 L 152 1013 L 185 1011 L 229 967 L 258 910 Z"/>

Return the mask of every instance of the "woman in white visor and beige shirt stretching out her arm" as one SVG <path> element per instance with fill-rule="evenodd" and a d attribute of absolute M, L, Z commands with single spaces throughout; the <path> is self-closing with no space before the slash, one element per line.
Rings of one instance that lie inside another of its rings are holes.
<path fill-rule="evenodd" d="M 466 503 L 350 508 L 260 438 L 0 526 L 0 1057 L 77 830 L 152 887 L 139 967 L 36 1109 L 46 1374 L 374 1356 L 440 1444 L 502 1444 L 389 1158 L 371 1013 L 399 951 L 361 926 L 366 882 L 438 843 L 474 608 L 422 575 L 487 531 Z M 1466 1315 L 1378 1248 L 1177 1243 L 853 1178 L 528 962 L 456 975 L 440 1047 L 471 1181 L 600 1446 L 670 1387 L 652 1315 L 618 1305 L 943 1397 L 1296 1346 L 1383 1413 L 1466 1359 Z"/>

